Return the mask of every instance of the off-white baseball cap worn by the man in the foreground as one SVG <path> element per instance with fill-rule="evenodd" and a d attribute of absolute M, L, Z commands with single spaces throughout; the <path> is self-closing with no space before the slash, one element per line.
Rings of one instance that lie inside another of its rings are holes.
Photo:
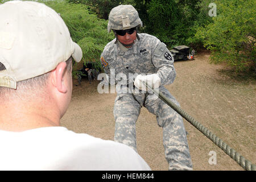
<path fill-rule="evenodd" d="M 0 86 L 52 71 L 82 50 L 72 41 L 61 16 L 43 3 L 9 1 L 0 5 Z"/>

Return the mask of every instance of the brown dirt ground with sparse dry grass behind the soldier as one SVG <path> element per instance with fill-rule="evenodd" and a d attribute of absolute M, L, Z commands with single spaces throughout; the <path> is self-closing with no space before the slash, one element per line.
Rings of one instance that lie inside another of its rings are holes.
<path fill-rule="evenodd" d="M 256 81 L 230 77 L 222 65 L 209 64 L 209 52 L 200 52 L 195 60 L 175 61 L 177 72 L 171 94 L 189 115 L 224 140 L 251 163 L 256 162 Z M 77 133 L 87 133 L 102 139 L 114 139 L 113 106 L 116 94 L 97 92 L 99 81 L 82 80 L 61 125 Z M 243 170 L 230 156 L 183 119 L 188 132 L 188 144 L 193 169 Z M 137 150 L 152 170 L 166 171 L 162 128 L 155 115 L 142 108 L 137 121 Z M 216 152 L 217 163 L 210 165 L 210 151 Z"/>

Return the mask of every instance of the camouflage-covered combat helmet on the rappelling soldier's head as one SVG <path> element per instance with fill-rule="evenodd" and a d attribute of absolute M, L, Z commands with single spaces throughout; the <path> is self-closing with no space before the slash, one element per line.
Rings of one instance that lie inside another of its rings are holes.
<path fill-rule="evenodd" d="M 108 31 L 142 27 L 138 11 L 131 5 L 119 5 L 109 13 Z"/>

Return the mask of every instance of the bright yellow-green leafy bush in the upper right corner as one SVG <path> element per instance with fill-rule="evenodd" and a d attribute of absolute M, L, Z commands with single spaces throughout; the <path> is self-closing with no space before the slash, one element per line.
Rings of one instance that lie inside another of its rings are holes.
<path fill-rule="evenodd" d="M 212 51 L 211 63 L 227 63 L 236 72 L 255 69 L 255 1 L 217 1 L 213 22 L 197 28 L 195 38 Z"/>

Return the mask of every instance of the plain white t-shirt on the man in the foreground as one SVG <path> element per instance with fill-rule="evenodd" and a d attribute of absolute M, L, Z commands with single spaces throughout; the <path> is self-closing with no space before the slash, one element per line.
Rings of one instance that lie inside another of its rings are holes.
<path fill-rule="evenodd" d="M 0 130 L 0 170 L 151 170 L 132 148 L 65 127 Z"/>

